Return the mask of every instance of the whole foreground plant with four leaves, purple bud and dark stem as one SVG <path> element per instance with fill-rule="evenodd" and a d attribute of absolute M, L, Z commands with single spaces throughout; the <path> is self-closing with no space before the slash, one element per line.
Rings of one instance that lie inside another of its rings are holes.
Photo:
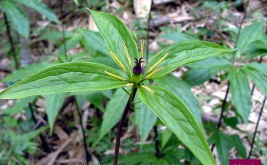
<path fill-rule="evenodd" d="M 143 47 L 140 54 L 136 42 L 127 27 L 115 16 L 90 10 L 107 49 L 120 71 L 110 66 L 92 62 L 66 62 L 45 68 L 0 93 L 0 99 L 19 99 L 39 94 L 108 90 L 123 88 L 130 95 L 116 138 L 114 164 L 118 161 L 120 135 L 127 112 L 134 108 L 133 99 L 138 93 L 140 100 L 173 131 L 181 142 L 192 151 L 202 164 L 216 164 L 207 140 L 192 110 L 183 99 L 149 81 L 163 77 L 179 66 L 190 62 L 231 53 L 212 42 L 181 42 L 157 53 L 143 68 Z M 136 65 L 133 66 L 133 62 Z M 130 88 L 130 92 L 127 91 Z"/>

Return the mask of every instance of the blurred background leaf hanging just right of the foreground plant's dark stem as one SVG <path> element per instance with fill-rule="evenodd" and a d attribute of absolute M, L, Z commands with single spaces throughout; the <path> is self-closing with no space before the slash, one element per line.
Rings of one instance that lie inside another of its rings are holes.
<path fill-rule="evenodd" d="M 147 140 L 149 132 L 155 125 L 157 116 L 155 116 L 155 114 L 149 109 L 149 107 L 147 107 L 147 105 L 144 105 L 144 103 L 138 103 L 136 107 L 138 107 L 135 110 L 136 124 L 138 126 L 141 142 L 144 142 Z"/>

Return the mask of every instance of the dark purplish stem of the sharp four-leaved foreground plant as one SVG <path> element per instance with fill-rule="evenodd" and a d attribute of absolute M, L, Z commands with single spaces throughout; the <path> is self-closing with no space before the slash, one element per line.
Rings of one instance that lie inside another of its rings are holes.
<path fill-rule="evenodd" d="M 123 125 L 125 124 L 125 120 L 127 118 L 127 114 L 129 110 L 131 110 L 131 105 L 133 103 L 134 97 L 136 96 L 136 92 L 137 92 L 137 88 L 133 87 L 133 89 L 131 90 L 131 95 L 125 106 L 123 116 L 121 117 L 120 123 L 118 124 L 118 132 L 116 136 L 115 151 L 114 151 L 114 165 L 118 164 L 118 151 L 120 149 L 120 137 L 121 137 L 121 134 L 123 133 Z"/>

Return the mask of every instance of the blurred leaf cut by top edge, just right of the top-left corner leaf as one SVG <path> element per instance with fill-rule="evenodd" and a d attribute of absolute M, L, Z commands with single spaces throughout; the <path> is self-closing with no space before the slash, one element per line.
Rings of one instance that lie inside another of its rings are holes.
<path fill-rule="evenodd" d="M 16 0 L 18 3 L 22 3 L 23 5 L 26 5 L 29 8 L 33 8 L 40 14 L 43 14 L 46 16 L 50 21 L 53 21 L 55 23 L 59 23 L 58 16 L 55 15 L 55 13 L 47 7 L 44 3 L 41 1 L 36 0 Z"/>

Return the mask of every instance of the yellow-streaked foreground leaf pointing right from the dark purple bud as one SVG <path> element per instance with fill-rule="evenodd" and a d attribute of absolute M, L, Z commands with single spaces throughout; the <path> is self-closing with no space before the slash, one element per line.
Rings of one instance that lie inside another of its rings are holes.
<path fill-rule="evenodd" d="M 156 64 L 159 60 L 163 59 L 163 62 L 156 67 L 160 68 L 164 66 L 164 68 L 160 72 L 153 76 L 153 78 L 156 79 L 170 73 L 171 71 L 174 71 L 179 66 L 198 60 L 204 60 L 206 58 L 212 58 L 223 53 L 229 53 L 231 51 L 233 50 L 226 49 L 225 47 L 221 47 L 220 45 L 212 42 L 180 42 L 157 53 L 151 59 L 147 68 L 151 68 L 151 66 Z"/>

